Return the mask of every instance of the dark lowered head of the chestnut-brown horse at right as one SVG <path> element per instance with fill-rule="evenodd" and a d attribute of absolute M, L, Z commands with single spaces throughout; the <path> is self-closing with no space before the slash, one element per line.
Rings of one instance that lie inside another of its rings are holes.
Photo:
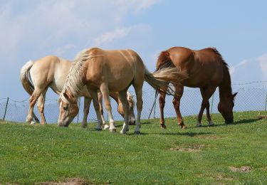
<path fill-rule="evenodd" d="M 226 96 L 220 99 L 218 104 L 218 110 L 224 117 L 226 124 L 232 124 L 234 122 L 233 108 L 234 108 L 234 97 L 237 93 L 233 95 Z"/>

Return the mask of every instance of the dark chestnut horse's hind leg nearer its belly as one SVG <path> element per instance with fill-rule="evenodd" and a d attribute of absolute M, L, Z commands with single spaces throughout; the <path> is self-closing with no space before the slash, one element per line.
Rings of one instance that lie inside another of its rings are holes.
<path fill-rule="evenodd" d="M 183 85 L 174 85 L 175 88 L 175 94 L 174 98 L 172 100 L 172 104 L 174 105 L 174 110 L 177 115 L 178 125 L 181 126 L 182 129 L 186 129 L 187 126 L 184 125 L 184 120 L 182 119 L 181 111 L 180 111 L 180 102 L 181 97 L 184 93 L 184 86 Z"/>

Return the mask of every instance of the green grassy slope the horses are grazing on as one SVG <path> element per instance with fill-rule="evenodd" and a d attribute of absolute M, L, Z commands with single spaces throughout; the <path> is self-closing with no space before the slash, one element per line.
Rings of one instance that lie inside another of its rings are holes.
<path fill-rule="evenodd" d="M 261 112 L 267 115 L 267 112 Z M 143 120 L 140 135 L 0 122 L 0 184 L 79 178 L 89 184 L 267 184 L 267 119 L 235 112 L 235 124 L 194 127 L 195 117 Z M 246 166 L 247 171 L 233 171 Z"/>

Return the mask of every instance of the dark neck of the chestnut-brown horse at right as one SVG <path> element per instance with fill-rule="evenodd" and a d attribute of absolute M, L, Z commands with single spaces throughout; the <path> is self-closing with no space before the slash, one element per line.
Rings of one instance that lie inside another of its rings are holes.
<path fill-rule="evenodd" d="M 228 67 L 224 66 L 224 78 L 221 84 L 219 85 L 220 100 L 221 98 L 229 97 L 230 95 L 232 95 L 231 77 Z"/>

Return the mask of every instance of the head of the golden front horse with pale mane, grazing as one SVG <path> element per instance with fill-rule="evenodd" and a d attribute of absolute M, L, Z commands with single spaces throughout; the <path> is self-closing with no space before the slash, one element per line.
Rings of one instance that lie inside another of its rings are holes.
<path fill-rule="evenodd" d="M 66 91 L 65 93 L 62 93 L 58 102 L 59 102 L 58 126 L 68 127 L 68 125 L 70 125 L 70 122 L 73 121 L 74 117 L 78 115 L 79 107 L 77 100 L 75 100 L 74 97 L 70 96 Z"/>

